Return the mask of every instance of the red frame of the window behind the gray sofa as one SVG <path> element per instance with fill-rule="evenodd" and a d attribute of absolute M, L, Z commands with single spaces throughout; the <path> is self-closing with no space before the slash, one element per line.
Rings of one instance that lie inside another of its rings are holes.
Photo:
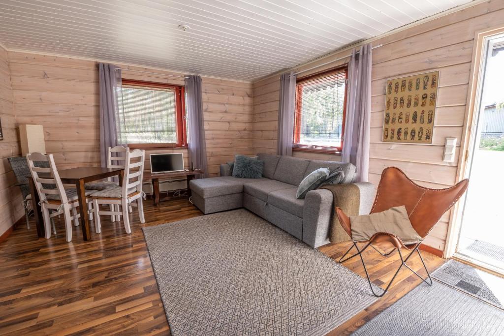
<path fill-rule="evenodd" d="M 343 135 L 345 132 L 346 120 L 346 103 L 347 103 L 347 88 L 345 85 L 345 95 L 343 98 L 343 117 L 341 121 L 341 142 L 335 146 L 315 146 L 300 144 L 301 138 L 301 105 L 302 105 L 302 89 L 303 84 L 319 78 L 329 77 L 337 73 L 345 73 L 345 81 L 348 80 L 348 64 L 338 66 L 337 68 L 329 69 L 306 77 L 301 77 L 296 80 L 296 100 L 294 111 L 294 136 L 292 139 L 292 150 L 299 152 L 324 153 L 324 154 L 340 154 L 343 150 Z"/>

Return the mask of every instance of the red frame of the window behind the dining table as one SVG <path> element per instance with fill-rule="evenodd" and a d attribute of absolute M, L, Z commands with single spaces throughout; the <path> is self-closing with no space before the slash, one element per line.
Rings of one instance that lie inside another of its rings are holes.
<path fill-rule="evenodd" d="M 181 85 L 172 85 L 147 81 L 136 81 L 123 79 L 122 85 L 134 85 L 147 88 L 174 89 L 175 90 L 175 116 L 177 122 L 177 143 L 176 144 L 128 144 L 128 147 L 134 149 L 156 149 L 156 148 L 186 148 L 187 147 L 187 128 L 185 127 L 185 91 Z"/>

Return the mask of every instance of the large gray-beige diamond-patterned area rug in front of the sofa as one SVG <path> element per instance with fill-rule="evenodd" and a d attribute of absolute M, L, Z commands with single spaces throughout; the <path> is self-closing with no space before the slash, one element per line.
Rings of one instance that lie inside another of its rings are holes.
<path fill-rule="evenodd" d="M 143 229 L 173 335 L 322 335 L 367 281 L 247 210 Z"/>

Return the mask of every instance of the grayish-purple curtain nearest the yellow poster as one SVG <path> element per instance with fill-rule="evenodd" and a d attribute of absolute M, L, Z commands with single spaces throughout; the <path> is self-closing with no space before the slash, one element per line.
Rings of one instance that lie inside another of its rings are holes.
<path fill-rule="evenodd" d="M 347 109 L 343 136 L 344 162 L 357 167 L 357 181 L 367 182 L 371 119 L 371 44 L 352 52 L 348 68 Z"/>

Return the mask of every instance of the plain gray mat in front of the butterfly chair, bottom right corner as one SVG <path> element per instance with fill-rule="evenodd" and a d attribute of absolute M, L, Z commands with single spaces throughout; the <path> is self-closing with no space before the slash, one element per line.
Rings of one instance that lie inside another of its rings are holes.
<path fill-rule="evenodd" d="M 434 281 L 421 283 L 353 335 L 488 336 L 504 334 L 504 312 Z"/>

